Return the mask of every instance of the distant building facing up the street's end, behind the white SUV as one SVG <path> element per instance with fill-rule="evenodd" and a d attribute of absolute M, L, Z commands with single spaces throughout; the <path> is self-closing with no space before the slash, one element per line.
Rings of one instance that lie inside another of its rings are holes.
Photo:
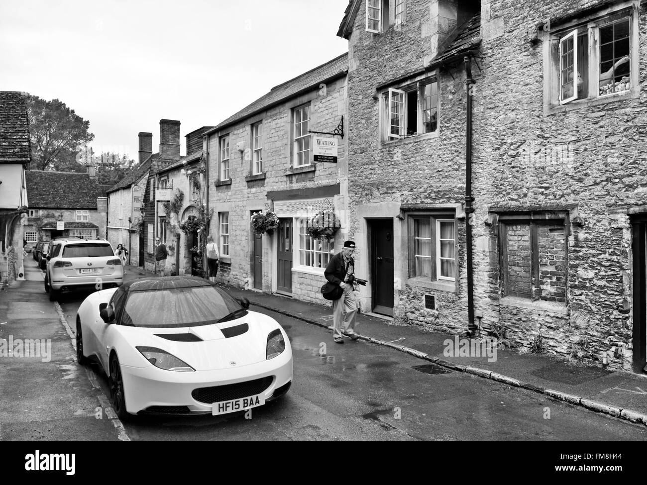
<path fill-rule="evenodd" d="M 87 173 L 28 170 L 26 175 L 28 246 L 62 236 L 106 238 L 107 197 L 93 166 Z"/>

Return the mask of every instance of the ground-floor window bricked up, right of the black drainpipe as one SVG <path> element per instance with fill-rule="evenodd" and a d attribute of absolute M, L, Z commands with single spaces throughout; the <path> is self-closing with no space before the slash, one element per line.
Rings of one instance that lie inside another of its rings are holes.
<path fill-rule="evenodd" d="M 503 294 L 565 303 L 566 250 L 564 221 L 501 224 Z"/>

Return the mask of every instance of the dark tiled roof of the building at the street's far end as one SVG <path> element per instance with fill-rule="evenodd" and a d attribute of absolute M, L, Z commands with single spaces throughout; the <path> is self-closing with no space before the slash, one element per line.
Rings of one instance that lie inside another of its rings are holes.
<path fill-rule="evenodd" d="M 27 170 L 30 208 L 94 209 L 104 191 L 87 173 Z"/>

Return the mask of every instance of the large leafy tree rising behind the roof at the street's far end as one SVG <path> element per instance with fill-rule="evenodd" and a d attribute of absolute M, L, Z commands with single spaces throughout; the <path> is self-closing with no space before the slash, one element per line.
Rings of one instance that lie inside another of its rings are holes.
<path fill-rule="evenodd" d="M 59 100 L 29 96 L 27 102 L 32 145 L 32 169 L 85 171 L 76 156 L 94 139 L 90 122 Z"/>

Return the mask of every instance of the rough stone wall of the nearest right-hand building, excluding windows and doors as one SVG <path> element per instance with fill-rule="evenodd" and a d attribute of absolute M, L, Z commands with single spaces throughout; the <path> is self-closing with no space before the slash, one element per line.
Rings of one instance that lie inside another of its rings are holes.
<path fill-rule="evenodd" d="M 404 83 L 406 74 L 423 69 L 442 53 L 435 52 L 442 41 L 434 38 L 442 29 L 434 33 L 428 27 L 442 23 L 433 19 L 438 6 L 434 1 L 408 0 L 399 29 L 371 34 L 365 32 L 362 2 L 353 24 L 348 208 L 349 234 L 358 241 L 358 272 L 371 279 L 367 221 L 391 219 L 395 318 L 463 333 L 467 329 L 465 224 L 470 223 L 474 307 L 483 314 L 483 332 L 522 350 L 540 349 L 631 370 L 634 352 L 641 351 L 634 345 L 644 346 L 645 341 L 644 335 L 633 336 L 637 308 L 631 286 L 631 223 L 647 212 L 639 176 L 646 156 L 642 141 L 647 115 L 645 7 L 638 1 L 613 6 L 602 1 L 481 3 L 478 67 L 472 61 L 475 211 L 465 217 L 461 212 L 466 133 L 462 59 L 427 73 L 435 74 L 438 81 L 437 133 L 380 141 L 380 93 L 389 85 Z M 628 7 L 627 13 L 617 14 L 623 6 Z M 609 14 L 631 17 L 631 89 L 608 98 L 591 95 L 569 104 L 554 103 L 554 36 L 560 28 Z M 455 207 L 454 287 L 411 277 L 410 266 L 413 235 L 408 219 L 417 212 L 450 206 Z M 512 219 L 506 219 L 510 215 Z M 531 250 L 531 242 L 536 249 Z M 436 297 L 435 309 L 424 308 L 424 294 Z M 363 304 L 371 307 L 371 297 L 364 297 Z"/>

